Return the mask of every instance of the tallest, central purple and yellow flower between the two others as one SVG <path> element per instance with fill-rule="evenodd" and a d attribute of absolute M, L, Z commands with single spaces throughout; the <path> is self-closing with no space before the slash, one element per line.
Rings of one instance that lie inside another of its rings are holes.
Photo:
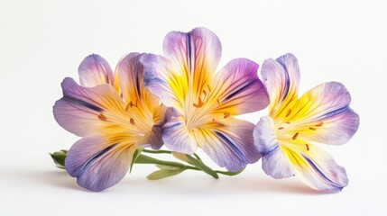
<path fill-rule="evenodd" d="M 221 44 L 212 31 L 172 31 L 164 39 L 164 57 L 148 54 L 144 84 L 172 108 L 162 139 L 173 151 L 193 154 L 202 148 L 219 166 L 237 171 L 260 155 L 253 146 L 253 123 L 234 116 L 263 109 L 268 94 L 258 65 L 236 58 L 215 74 Z"/>

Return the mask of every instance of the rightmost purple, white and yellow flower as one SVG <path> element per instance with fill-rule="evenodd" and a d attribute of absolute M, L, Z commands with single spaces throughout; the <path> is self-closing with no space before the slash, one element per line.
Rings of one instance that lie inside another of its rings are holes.
<path fill-rule="evenodd" d="M 346 87 L 328 82 L 298 97 L 299 64 L 292 54 L 265 60 L 262 76 L 270 113 L 253 136 L 263 171 L 273 178 L 297 175 L 317 190 L 340 191 L 348 184 L 345 168 L 310 142 L 341 145 L 355 134 L 359 116 L 349 108 Z"/>

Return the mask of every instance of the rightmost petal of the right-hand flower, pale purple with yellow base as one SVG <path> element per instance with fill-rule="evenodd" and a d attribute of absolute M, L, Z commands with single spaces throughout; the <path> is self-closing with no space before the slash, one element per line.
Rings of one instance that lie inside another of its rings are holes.
<path fill-rule="evenodd" d="M 288 132 L 298 132 L 299 139 L 344 144 L 359 126 L 359 116 L 349 108 L 350 102 L 351 96 L 344 85 L 336 82 L 318 85 L 294 105 L 286 118 L 291 122 Z"/>

